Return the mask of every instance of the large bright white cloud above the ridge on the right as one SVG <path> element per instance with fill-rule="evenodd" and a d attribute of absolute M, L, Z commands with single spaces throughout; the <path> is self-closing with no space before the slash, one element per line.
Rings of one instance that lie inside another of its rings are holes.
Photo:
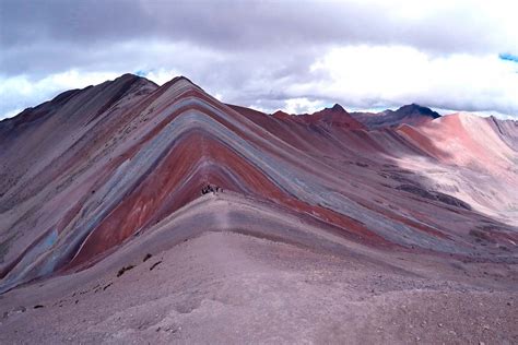
<path fill-rule="evenodd" d="M 458 110 L 518 114 L 518 66 L 497 55 L 427 55 L 404 46 L 335 47 L 314 72 L 331 82 L 294 86 L 344 105 L 376 107 L 421 103 Z"/>

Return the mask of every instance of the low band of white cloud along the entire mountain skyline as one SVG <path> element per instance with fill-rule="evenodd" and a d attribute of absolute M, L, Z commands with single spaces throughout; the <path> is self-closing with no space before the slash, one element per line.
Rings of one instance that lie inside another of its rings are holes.
<path fill-rule="evenodd" d="M 170 48 L 158 44 L 151 47 L 150 51 L 160 53 L 153 53 L 150 59 Z M 178 48 L 175 51 L 178 52 Z M 292 114 L 313 112 L 335 102 L 355 109 L 419 103 L 442 109 L 493 111 L 507 118 L 518 115 L 518 64 L 504 61 L 497 55 L 437 56 L 409 46 L 334 46 L 322 50 L 313 63 L 308 62 L 304 78 L 282 73 L 276 78 L 274 71 L 282 71 L 286 60 L 266 60 L 263 63 L 268 63 L 268 68 L 248 63 L 247 73 L 232 68 L 214 71 L 215 55 L 199 52 L 196 68 L 189 64 L 193 59 L 190 52 L 176 60 L 177 63 L 174 59 L 160 63 L 174 64 L 178 69 L 144 69 L 142 74 L 158 85 L 185 74 L 223 102 L 246 105 L 257 97 L 258 102 L 252 106 L 268 112 L 276 109 Z M 131 51 L 125 50 L 125 53 L 131 55 Z M 139 59 L 145 60 L 142 56 Z M 223 60 L 220 57 L 219 66 L 225 64 Z M 231 64 L 237 66 L 237 61 Z M 97 84 L 122 72 L 73 69 L 40 80 L 27 75 L 0 80 L 0 118 L 1 115 L 13 116 L 17 109 L 40 104 L 62 91 Z M 238 80 L 236 78 L 225 84 L 226 74 L 223 73 L 236 72 L 242 78 L 242 85 L 233 84 Z M 248 73 L 250 78 L 247 79 Z M 240 96 L 247 98 L 240 99 Z"/>

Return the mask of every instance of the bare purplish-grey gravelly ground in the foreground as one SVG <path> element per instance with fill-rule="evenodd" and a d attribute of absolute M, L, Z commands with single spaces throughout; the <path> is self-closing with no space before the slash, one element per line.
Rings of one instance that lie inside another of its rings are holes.
<path fill-rule="evenodd" d="M 400 267 L 204 233 L 120 276 L 105 260 L 2 295 L 0 343 L 518 342 L 515 266 L 398 257 Z"/>

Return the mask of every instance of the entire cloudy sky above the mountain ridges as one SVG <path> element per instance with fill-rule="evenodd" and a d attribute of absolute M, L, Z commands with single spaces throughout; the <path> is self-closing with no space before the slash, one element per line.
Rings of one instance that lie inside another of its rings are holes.
<path fill-rule="evenodd" d="M 266 111 L 518 119 L 515 2 L 0 0 L 0 119 L 126 72 Z"/>

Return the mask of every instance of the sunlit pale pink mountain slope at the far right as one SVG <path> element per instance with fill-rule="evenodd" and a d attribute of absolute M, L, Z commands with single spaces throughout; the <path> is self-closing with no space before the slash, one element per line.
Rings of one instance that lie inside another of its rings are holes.
<path fill-rule="evenodd" d="M 498 128 L 506 128 L 506 134 Z M 435 157 L 433 160 L 408 157 L 401 160 L 401 166 L 421 171 L 438 192 L 460 199 L 504 223 L 518 224 L 515 121 L 454 114 L 422 127 L 401 127 L 397 131 Z"/>

